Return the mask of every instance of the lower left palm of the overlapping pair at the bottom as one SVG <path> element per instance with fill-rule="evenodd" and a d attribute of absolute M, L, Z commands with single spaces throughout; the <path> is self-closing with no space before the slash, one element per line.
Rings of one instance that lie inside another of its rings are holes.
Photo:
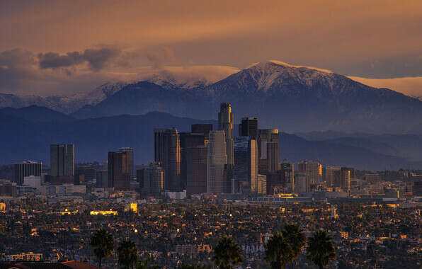
<path fill-rule="evenodd" d="M 264 259 L 270 263 L 271 269 L 284 269 L 286 264 L 293 260 L 293 255 L 290 241 L 278 232 L 268 240 Z"/>

